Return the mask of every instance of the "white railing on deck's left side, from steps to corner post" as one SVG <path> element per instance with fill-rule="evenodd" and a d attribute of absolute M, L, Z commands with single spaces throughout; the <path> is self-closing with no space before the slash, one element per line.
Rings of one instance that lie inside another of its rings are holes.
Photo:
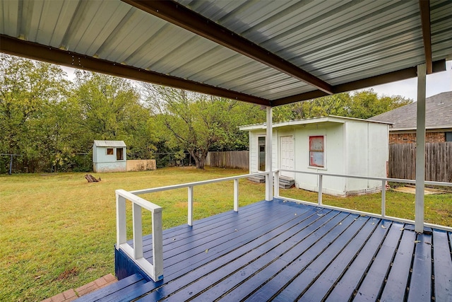
<path fill-rule="evenodd" d="M 168 185 L 165 187 L 155 187 L 144 190 L 125 191 L 116 190 L 117 200 L 117 248 L 121 248 L 133 259 L 138 267 L 149 275 L 154 281 L 163 278 L 163 236 L 162 236 L 162 208 L 138 197 L 140 194 L 162 192 L 168 190 L 188 189 L 188 221 L 189 226 L 193 226 L 193 197 L 194 187 L 198 185 L 209 185 L 215 182 L 234 181 L 234 211 L 239 211 L 239 179 L 250 176 L 265 175 L 268 182 L 270 173 L 253 173 L 246 175 L 231 176 L 229 178 L 218 178 L 215 180 L 203 180 L 199 182 L 189 182 L 180 185 Z M 267 188 L 268 190 L 268 188 Z M 127 243 L 126 235 L 126 200 L 132 202 L 132 220 L 133 220 L 133 248 Z M 143 257 L 143 223 L 141 219 L 141 209 L 147 209 L 152 213 L 153 228 L 153 264 Z"/>

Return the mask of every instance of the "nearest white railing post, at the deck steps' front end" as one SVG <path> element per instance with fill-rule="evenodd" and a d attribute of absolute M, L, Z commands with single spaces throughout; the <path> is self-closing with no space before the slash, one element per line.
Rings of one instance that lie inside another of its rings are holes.
<path fill-rule="evenodd" d="M 163 227 L 162 208 L 153 212 L 153 259 L 154 277 L 157 280 L 163 278 Z"/>

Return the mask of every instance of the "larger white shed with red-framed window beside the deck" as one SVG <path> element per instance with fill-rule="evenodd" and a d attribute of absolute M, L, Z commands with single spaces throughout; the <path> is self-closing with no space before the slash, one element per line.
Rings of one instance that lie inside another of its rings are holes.
<path fill-rule="evenodd" d="M 386 122 L 348 117 L 320 117 L 273 124 L 273 167 L 288 170 L 386 177 L 388 161 Z M 249 172 L 266 170 L 266 126 L 240 127 L 249 131 Z M 287 173 L 295 186 L 318 192 L 317 175 Z M 333 195 L 366 194 L 381 190 L 381 181 L 323 178 L 323 192 Z"/>

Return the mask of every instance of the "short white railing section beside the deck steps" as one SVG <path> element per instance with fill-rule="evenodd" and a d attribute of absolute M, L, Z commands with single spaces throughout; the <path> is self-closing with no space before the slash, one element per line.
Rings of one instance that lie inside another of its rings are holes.
<path fill-rule="evenodd" d="M 126 200 L 132 202 L 133 219 L 133 248 L 127 243 L 126 232 Z M 153 228 L 153 264 L 143 257 L 143 223 L 141 209 L 152 213 Z M 163 278 L 163 236 L 162 236 L 162 208 L 147 200 L 127 192 L 116 190 L 117 217 L 117 249 L 121 248 L 138 267 L 143 269 L 154 281 Z"/>

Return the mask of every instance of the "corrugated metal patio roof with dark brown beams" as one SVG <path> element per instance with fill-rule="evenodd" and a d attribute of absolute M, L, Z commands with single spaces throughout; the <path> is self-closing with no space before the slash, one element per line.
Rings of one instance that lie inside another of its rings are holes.
<path fill-rule="evenodd" d="M 1 0 L 8 54 L 261 105 L 445 69 L 452 1 Z"/>

